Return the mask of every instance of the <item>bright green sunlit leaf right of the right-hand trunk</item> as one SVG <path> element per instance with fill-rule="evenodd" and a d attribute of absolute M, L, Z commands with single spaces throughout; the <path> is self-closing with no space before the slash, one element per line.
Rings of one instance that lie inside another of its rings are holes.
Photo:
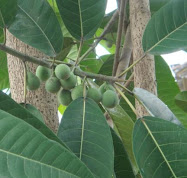
<path fill-rule="evenodd" d="M 173 77 L 168 64 L 160 56 L 155 57 L 158 97 L 171 109 L 176 117 L 187 127 L 187 113 L 175 104 L 175 96 L 180 89 Z"/>

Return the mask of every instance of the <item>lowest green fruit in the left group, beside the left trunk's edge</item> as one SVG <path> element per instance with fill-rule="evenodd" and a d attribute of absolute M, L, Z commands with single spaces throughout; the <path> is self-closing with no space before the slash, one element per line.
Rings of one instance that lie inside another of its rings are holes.
<path fill-rule="evenodd" d="M 58 101 L 64 106 L 68 106 L 72 102 L 71 92 L 69 90 L 60 90 L 58 93 Z"/>

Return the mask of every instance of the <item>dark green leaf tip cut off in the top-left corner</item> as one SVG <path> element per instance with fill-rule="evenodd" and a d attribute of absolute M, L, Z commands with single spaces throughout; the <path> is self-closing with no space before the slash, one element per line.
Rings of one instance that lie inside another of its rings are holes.
<path fill-rule="evenodd" d="M 17 12 L 17 0 L 0 1 L 0 27 L 9 27 Z"/>

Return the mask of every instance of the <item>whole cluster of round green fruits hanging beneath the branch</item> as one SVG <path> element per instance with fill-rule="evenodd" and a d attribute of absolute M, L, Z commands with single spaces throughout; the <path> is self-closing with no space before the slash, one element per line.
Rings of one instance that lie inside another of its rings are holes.
<path fill-rule="evenodd" d="M 36 75 L 32 72 L 27 72 L 27 88 L 29 90 L 38 89 L 40 81 L 46 82 L 45 89 L 47 92 L 58 93 L 59 103 L 65 106 L 68 106 L 72 100 L 84 95 L 84 86 L 82 84 L 76 86 L 77 78 L 65 64 L 57 65 L 54 74 L 52 74 L 50 69 L 43 66 L 38 66 Z M 85 91 L 85 94 L 96 103 L 102 102 L 107 108 L 113 108 L 118 104 L 115 89 L 106 82 L 99 89 L 89 88 Z"/>

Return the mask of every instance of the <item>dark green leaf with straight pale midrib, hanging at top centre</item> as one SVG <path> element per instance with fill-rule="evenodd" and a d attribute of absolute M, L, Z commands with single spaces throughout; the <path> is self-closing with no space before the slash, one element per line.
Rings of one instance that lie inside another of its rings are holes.
<path fill-rule="evenodd" d="M 66 28 L 80 40 L 91 38 L 99 27 L 106 8 L 106 0 L 57 0 Z"/>

